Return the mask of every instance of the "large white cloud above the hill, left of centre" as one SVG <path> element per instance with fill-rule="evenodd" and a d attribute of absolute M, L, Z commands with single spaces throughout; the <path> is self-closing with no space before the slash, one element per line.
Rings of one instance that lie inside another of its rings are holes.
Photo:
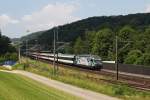
<path fill-rule="evenodd" d="M 76 10 L 77 7 L 71 4 L 48 4 L 39 11 L 24 15 L 21 21 L 31 32 L 45 30 L 78 20 L 78 17 L 73 16 Z"/>

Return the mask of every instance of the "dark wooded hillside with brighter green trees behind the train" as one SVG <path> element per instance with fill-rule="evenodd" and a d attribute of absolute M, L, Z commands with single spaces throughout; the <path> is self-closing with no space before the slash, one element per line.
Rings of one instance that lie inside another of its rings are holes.
<path fill-rule="evenodd" d="M 58 32 L 58 41 L 64 42 L 58 52 L 115 60 L 117 37 L 119 63 L 150 65 L 150 13 L 90 17 L 34 33 L 26 40 L 30 45 L 37 40 L 41 50 L 52 51 L 54 32 Z"/>

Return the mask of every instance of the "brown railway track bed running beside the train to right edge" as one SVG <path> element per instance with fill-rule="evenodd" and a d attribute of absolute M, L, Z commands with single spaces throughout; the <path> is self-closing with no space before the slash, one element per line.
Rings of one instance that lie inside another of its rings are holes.
<path fill-rule="evenodd" d="M 48 61 L 48 60 L 43 60 L 43 59 L 38 59 L 42 62 L 46 62 L 49 64 L 53 64 L 52 61 Z M 91 69 L 86 69 L 86 68 L 81 68 L 79 66 L 72 66 L 72 65 L 68 65 L 68 64 L 63 64 L 63 63 L 58 63 L 58 66 L 60 67 L 67 67 L 67 68 L 75 68 L 78 69 L 80 71 L 83 72 L 89 72 L 89 73 L 93 73 L 93 74 L 97 74 L 97 75 L 102 75 L 102 76 L 107 76 L 110 77 L 109 79 L 98 79 L 98 80 L 103 80 L 105 82 L 111 83 L 111 84 L 122 84 L 122 85 L 128 85 L 129 87 L 133 87 L 139 90 L 143 90 L 143 91 L 150 91 L 150 79 L 147 78 L 141 78 L 141 77 L 137 77 L 137 76 L 131 76 L 131 75 L 125 75 L 125 74 L 121 74 L 119 73 L 119 80 L 116 80 L 116 74 L 112 73 L 110 71 L 106 71 L 106 70 L 91 70 Z M 96 79 L 96 77 L 91 77 L 93 79 Z"/>

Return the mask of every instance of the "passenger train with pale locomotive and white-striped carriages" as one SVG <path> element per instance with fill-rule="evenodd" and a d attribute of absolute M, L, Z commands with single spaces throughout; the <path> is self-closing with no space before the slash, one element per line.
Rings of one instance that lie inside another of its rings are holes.
<path fill-rule="evenodd" d="M 36 59 L 44 59 L 48 61 L 55 61 L 58 63 L 74 65 L 89 69 L 101 69 L 103 67 L 102 60 L 97 55 L 73 55 L 73 54 L 53 54 L 53 53 L 37 53 L 32 52 L 29 54 L 30 57 Z M 55 57 L 55 58 L 54 58 Z"/>

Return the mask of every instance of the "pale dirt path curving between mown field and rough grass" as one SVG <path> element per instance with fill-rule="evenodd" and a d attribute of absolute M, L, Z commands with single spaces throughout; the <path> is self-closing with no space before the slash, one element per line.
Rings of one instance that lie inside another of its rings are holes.
<path fill-rule="evenodd" d="M 36 80 L 40 83 L 43 83 L 47 86 L 54 87 L 56 89 L 62 90 L 64 92 L 70 93 L 72 95 L 81 97 L 81 98 L 83 98 L 83 100 L 118 100 L 117 98 L 114 98 L 114 97 L 109 97 L 104 94 L 100 94 L 100 93 L 96 93 L 96 92 L 89 91 L 86 89 L 78 88 L 76 86 L 64 84 L 62 82 L 51 80 L 49 78 L 46 78 L 46 77 L 43 77 L 43 76 L 40 76 L 37 74 L 33 74 L 30 72 L 19 71 L 19 70 L 11 71 L 11 72 L 24 75 L 24 76 L 29 77 L 33 80 Z"/>

